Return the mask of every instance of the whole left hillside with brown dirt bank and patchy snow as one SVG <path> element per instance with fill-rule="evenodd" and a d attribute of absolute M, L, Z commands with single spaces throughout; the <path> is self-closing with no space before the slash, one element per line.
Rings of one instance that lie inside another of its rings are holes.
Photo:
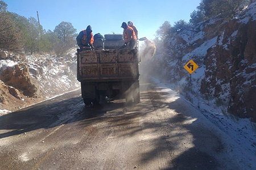
<path fill-rule="evenodd" d="M 80 88 L 76 49 L 64 57 L 7 54 L 0 59 L 0 115 Z"/>

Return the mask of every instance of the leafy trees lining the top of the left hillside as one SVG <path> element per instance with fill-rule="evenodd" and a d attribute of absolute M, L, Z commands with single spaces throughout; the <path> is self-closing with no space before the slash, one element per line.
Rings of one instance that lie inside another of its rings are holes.
<path fill-rule="evenodd" d="M 76 44 L 71 23 L 61 22 L 53 31 L 46 31 L 35 18 L 7 11 L 4 1 L 0 1 L 0 23 L 1 50 L 62 56 Z"/>

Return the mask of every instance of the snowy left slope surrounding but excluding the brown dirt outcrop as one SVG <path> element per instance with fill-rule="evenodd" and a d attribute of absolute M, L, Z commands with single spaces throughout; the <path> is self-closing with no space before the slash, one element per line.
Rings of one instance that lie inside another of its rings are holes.
<path fill-rule="evenodd" d="M 10 58 L 13 57 L 15 57 L 16 62 L 11 61 L 10 59 L 0 59 L 0 73 L 7 67 L 14 67 L 19 63 L 28 66 L 31 80 L 38 90 L 36 98 L 31 99 L 28 103 L 49 99 L 53 96 L 80 88 L 80 83 L 76 78 L 76 49 L 69 50 L 69 52 L 63 57 L 39 54 L 22 57 L 19 56 L 19 54 L 13 54 Z M 8 88 L 11 88 L 10 84 L 5 85 L 8 86 Z M 15 89 L 15 91 L 19 90 Z M 18 107 L 11 107 L 11 104 L 14 103 L 11 101 L 12 99 L 10 97 L 8 99 L 5 97 L 13 94 L 9 94 L 7 92 L 6 94 L 3 93 L 1 95 L 6 100 L 5 104 L 0 103 L 1 115 L 18 109 Z M 20 100 L 22 100 L 19 103 L 20 107 L 27 105 L 24 99 Z M 5 109 L 11 111 L 7 111 Z"/>

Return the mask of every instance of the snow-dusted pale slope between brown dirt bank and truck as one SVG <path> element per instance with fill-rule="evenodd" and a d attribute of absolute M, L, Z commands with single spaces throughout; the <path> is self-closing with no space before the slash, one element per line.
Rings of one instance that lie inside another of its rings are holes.
<path fill-rule="evenodd" d="M 27 65 L 47 99 L 80 87 L 76 80 L 76 49 L 69 50 L 65 57 L 30 55 Z"/>

